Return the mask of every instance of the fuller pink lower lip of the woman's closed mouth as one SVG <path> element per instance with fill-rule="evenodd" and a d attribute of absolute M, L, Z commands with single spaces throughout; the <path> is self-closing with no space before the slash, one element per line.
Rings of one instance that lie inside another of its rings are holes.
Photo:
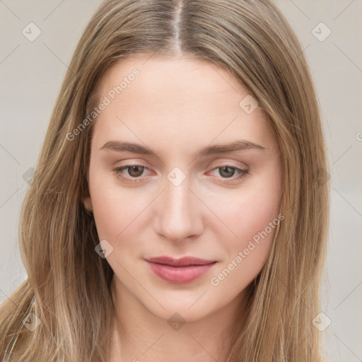
<path fill-rule="evenodd" d="M 186 284 L 206 274 L 214 264 L 188 265 L 187 267 L 171 267 L 170 265 L 148 262 L 153 272 L 165 281 L 174 284 Z"/>

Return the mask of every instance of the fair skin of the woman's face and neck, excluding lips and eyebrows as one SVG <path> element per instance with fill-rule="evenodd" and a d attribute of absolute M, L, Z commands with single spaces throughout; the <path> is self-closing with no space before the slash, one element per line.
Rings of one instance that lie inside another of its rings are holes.
<path fill-rule="evenodd" d="M 115 272 L 112 297 L 127 343 L 115 328 L 111 361 L 225 361 L 235 315 L 262 270 L 275 228 L 217 286 L 211 278 L 278 216 L 278 145 L 262 110 L 247 114 L 240 107 L 246 89 L 225 69 L 202 60 L 122 59 L 101 79 L 99 99 L 134 68 L 139 76 L 93 124 L 90 196 L 83 199 L 100 240 L 112 246 L 105 262 Z M 264 149 L 192 156 L 236 140 Z M 134 142 L 158 156 L 100 149 L 109 141 Z M 145 168 L 115 172 L 125 165 Z M 226 165 L 248 173 L 236 180 L 235 169 L 223 171 Z M 167 177 L 175 167 L 186 177 L 177 186 Z M 144 260 L 160 255 L 217 263 L 195 281 L 173 284 Z M 174 313 L 185 320 L 177 330 L 168 324 Z"/>

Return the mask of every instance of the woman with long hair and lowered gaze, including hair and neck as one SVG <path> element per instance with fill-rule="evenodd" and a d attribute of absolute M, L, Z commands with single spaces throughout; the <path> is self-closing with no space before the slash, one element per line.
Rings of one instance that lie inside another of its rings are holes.
<path fill-rule="evenodd" d="M 2 361 L 322 361 L 313 81 L 270 1 L 111 0 L 23 205 Z"/>

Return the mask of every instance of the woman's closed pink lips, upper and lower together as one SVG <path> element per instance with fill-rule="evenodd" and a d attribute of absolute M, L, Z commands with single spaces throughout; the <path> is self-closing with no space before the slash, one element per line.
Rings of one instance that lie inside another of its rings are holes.
<path fill-rule="evenodd" d="M 153 257 L 146 259 L 153 272 L 165 281 L 174 284 L 186 284 L 204 275 L 216 261 L 195 257 Z"/>

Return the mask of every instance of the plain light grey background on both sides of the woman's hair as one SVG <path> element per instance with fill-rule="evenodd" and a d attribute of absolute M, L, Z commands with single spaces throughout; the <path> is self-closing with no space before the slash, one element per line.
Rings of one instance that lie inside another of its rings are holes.
<path fill-rule="evenodd" d="M 25 279 L 18 218 L 67 64 L 99 0 L 0 0 L 0 303 Z M 321 332 L 329 361 L 362 361 L 362 1 L 277 0 L 315 80 L 331 165 Z M 22 30 L 41 30 L 30 42 Z M 324 41 L 313 35 L 327 34 Z M 319 30 L 321 29 L 321 30 Z M 360 181 L 358 181 L 360 180 Z M 311 325 L 313 328 L 313 325 Z"/>

